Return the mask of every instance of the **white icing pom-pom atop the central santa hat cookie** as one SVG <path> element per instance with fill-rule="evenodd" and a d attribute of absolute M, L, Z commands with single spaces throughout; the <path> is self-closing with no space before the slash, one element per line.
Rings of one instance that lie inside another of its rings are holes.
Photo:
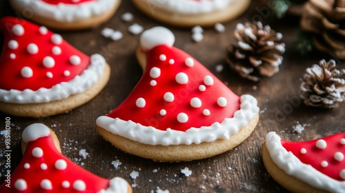
<path fill-rule="evenodd" d="M 160 26 L 146 30 L 140 37 L 140 45 L 144 51 L 151 50 L 158 45 L 172 46 L 174 43 L 174 34 L 167 28 Z"/>

